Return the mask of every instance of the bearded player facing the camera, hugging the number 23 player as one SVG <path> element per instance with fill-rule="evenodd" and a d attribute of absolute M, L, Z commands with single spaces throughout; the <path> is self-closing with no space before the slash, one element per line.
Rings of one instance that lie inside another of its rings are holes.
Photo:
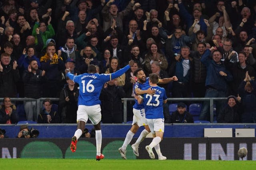
<path fill-rule="evenodd" d="M 134 94 L 136 94 L 136 95 L 142 95 L 144 93 L 152 94 L 152 95 L 155 94 L 155 91 L 151 90 L 151 88 L 148 88 L 146 90 L 141 90 L 142 88 L 149 86 L 148 77 L 146 77 L 142 68 L 139 68 L 136 71 L 134 71 L 134 75 L 138 79 L 133 87 Z M 177 81 L 177 80 L 178 80 L 177 77 L 174 76 L 174 77 L 170 77 L 170 78 L 159 79 L 159 83 L 169 83 L 170 81 Z M 136 97 L 136 95 L 135 95 L 135 97 Z M 150 129 L 148 127 L 148 123 L 147 123 L 146 117 L 145 117 L 144 104 L 138 104 L 138 101 L 136 99 L 135 99 L 135 104 L 133 106 L 133 113 L 134 113 L 134 116 L 133 116 L 133 121 L 132 121 L 132 127 L 127 132 L 126 138 L 124 140 L 122 147 L 118 149 L 118 152 L 120 152 L 123 159 L 126 159 L 126 147 L 131 142 L 134 134 L 138 131 L 138 129 L 142 125 L 144 126 L 145 129 L 142 130 L 142 132 L 140 133 L 140 136 L 138 137 L 136 142 L 134 144 L 132 144 L 132 149 L 136 156 L 139 156 L 138 146 L 139 146 L 140 142 L 142 142 L 144 140 L 144 138 L 150 133 Z M 162 156 L 159 145 L 156 146 L 155 149 L 156 149 L 156 152 L 158 153 L 158 159 L 160 159 L 160 160 L 166 159 L 165 156 Z"/>

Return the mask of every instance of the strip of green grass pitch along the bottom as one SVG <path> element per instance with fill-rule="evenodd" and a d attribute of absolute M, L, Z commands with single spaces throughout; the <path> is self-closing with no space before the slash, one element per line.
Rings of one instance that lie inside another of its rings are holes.
<path fill-rule="evenodd" d="M 256 170 L 256 161 L 3 159 L 1 170 Z"/>

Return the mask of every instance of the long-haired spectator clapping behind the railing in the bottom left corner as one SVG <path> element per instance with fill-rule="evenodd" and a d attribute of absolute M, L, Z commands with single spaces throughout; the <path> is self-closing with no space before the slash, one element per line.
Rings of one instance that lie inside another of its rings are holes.
<path fill-rule="evenodd" d="M 0 124 L 16 124 L 19 121 L 16 106 L 12 104 L 10 97 L 4 97 L 0 106 Z"/>

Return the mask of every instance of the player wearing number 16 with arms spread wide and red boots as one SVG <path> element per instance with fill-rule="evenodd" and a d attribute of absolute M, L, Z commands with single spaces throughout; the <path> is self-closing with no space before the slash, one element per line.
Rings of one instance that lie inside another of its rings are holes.
<path fill-rule="evenodd" d="M 78 97 L 78 110 L 77 110 L 77 130 L 72 137 L 72 142 L 70 144 L 70 149 L 72 152 L 76 151 L 76 143 L 84 131 L 84 127 L 88 118 L 92 122 L 95 128 L 95 138 L 96 138 L 96 148 L 97 155 L 96 160 L 101 160 L 104 155 L 101 154 L 101 142 L 102 134 L 100 128 L 101 121 L 101 109 L 100 109 L 100 92 L 101 89 L 107 81 L 115 79 L 120 75 L 124 74 L 134 61 L 129 61 L 129 65 L 111 74 L 98 74 L 96 73 L 95 65 L 89 65 L 87 72 L 82 75 L 73 75 L 70 73 L 69 69 L 65 70 L 66 75 L 73 80 L 75 83 L 79 84 L 79 97 Z"/>

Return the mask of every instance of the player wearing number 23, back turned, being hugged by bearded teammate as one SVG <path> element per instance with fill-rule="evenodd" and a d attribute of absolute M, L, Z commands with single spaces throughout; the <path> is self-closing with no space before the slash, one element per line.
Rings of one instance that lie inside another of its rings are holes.
<path fill-rule="evenodd" d="M 167 102 L 167 96 L 165 89 L 157 85 L 159 81 L 158 75 L 152 73 L 149 75 L 149 85 L 156 93 L 154 95 L 144 94 L 143 97 L 138 97 L 138 103 L 144 103 L 146 120 L 150 131 L 153 134 L 152 142 L 146 146 L 146 150 L 151 159 L 155 158 L 153 147 L 158 145 L 164 136 L 164 111 L 163 103 Z M 148 87 L 144 87 L 142 90 L 147 90 Z"/>

